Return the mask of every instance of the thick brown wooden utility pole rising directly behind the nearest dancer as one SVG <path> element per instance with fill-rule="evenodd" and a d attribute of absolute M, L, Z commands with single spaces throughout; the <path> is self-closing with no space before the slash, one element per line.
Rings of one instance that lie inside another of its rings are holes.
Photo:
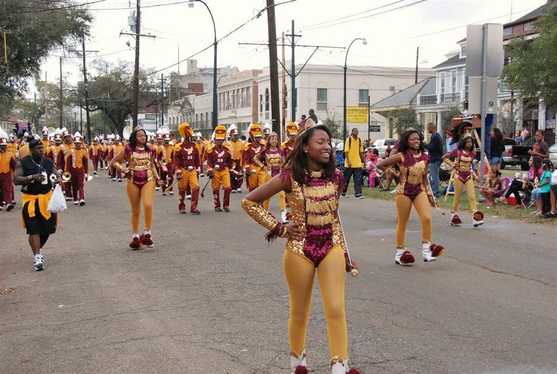
<path fill-rule="evenodd" d="M 278 134 L 280 140 L 281 133 L 281 112 L 278 106 L 278 64 L 276 63 L 276 22 L 274 17 L 274 0 L 267 0 L 267 29 L 269 31 L 269 79 L 271 83 L 271 117 L 272 129 Z"/>

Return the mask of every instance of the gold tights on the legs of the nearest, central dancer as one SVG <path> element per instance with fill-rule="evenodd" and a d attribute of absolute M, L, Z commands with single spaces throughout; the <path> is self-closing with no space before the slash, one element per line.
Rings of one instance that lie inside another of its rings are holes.
<path fill-rule="evenodd" d="M 347 330 L 344 307 L 345 259 L 342 247 L 336 245 L 317 266 L 323 309 L 327 320 L 331 357 L 347 357 Z M 288 337 L 290 349 L 301 352 L 306 347 L 306 327 L 311 309 L 311 293 L 315 264 L 299 254 L 284 252 L 284 275 L 290 294 Z"/>

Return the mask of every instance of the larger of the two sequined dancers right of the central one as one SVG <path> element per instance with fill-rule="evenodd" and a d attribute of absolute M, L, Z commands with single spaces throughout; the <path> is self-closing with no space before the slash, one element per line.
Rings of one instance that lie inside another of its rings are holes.
<path fill-rule="evenodd" d="M 396 186 L 395 195 L 398 216 L 395 263 L 402 266 L 410 266 L 415 261 L 405 243 L 412 206 L 418 212 L 422 224 L 423 261 L 435 261 L 444 252 L 444 247 L 431 243 L 433 229 L 430 204 L 437 206 L 437 202 L 427 179 L 429 162 L 430 158 L 425 154 L 423 135 L 416 129 L 407 129 L 400 137 L 399 152 L 377 163 L 377 168 L 389 173 L 394 171 L 393 168 L 387 167 L 395 163 L 398 163 L 400 168 L 400 182 Z"/>

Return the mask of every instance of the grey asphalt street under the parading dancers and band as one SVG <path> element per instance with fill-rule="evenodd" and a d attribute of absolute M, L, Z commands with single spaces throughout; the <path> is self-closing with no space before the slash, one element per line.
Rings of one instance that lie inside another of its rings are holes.
<path fill-rule="evenodd" d="M 132 251 L 125 182 L 103 172 L 35 272 L 16 192 L 0 212 L 0 373 L 290 373 L 284 241 L 267 246 L 244 196 L 217 213 L 209 187 L 193 216 L 157 193 L 155 247 Z M 432 210 L 445 254 L 402 267 L 393 202 L 351 197 L 340 213 L 360 266 L 346 310 L 361 373 L 557 373 L 554 225 L 486 215 L 474 229 L 462 213 L 451 227 Z M 421 259 L 415 212 L 407 247 Z M 310 373 L 330 373 L 317 282 L 307 335 Z"/>

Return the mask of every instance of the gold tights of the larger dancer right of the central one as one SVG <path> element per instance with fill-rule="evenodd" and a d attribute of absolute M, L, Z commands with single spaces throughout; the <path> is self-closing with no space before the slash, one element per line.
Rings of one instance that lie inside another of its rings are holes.
<path fill-rule="evenodd" d="M 396 225 L 396 247 L 400 248 L 405 245 L 406 229 L 408 227 L 408 220 L 410 218 L 410 211 L 412 205 L 416 209 L 418 216 L 422 222 L 422 240 L 431 241 L 432 236 L 432 223 L 430 202 L 427 200 L 425 191 L 419 193 L 414 199 L 414 202 L 407 195 L 396 195 L 396 213 L 398 215 L 398 223 Z"/>

